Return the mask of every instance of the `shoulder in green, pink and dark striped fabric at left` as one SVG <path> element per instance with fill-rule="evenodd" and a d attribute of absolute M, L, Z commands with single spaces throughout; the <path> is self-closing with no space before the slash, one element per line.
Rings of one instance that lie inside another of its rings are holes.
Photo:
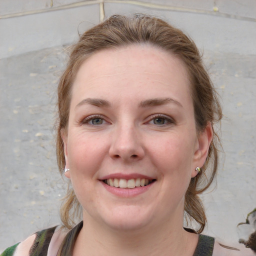
<path fill-rule="evenodd" d="M 56 255 L 66 232 L 59 226 L 38 231 L 25 240 L 5 249 L 0 256 Z"/>

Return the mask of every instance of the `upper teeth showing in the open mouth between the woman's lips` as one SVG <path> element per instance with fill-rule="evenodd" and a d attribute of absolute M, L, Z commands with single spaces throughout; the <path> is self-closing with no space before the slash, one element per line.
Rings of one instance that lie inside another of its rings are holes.
<path fill-rule="evenodd" d="M 139 186 L 147 186 L 153 183 L 156 179 L 147 179 L 147 178 L 131 178 L 131 179 L 124 179 L 124 178 L 108 178 L 103 179 L 102 181 L 114 187 L 120 188 L 134 188 Z"/>

